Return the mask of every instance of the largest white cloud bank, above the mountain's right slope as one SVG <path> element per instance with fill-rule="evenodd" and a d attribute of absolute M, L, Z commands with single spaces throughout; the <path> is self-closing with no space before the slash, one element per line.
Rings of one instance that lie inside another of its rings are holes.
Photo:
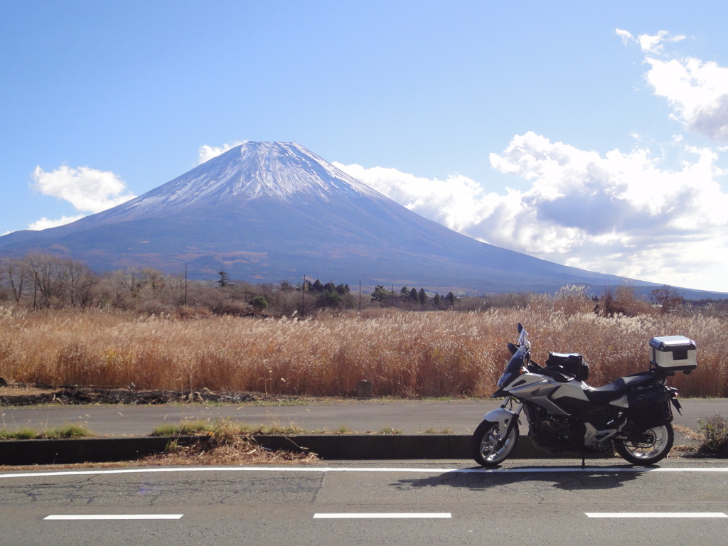
<path fill-rule="evenodd" d="M 728 195 L 716 153 L 662 170 L 646 149 L 602 156 L 534 132 L 491 154 L 501 173 L 532 182 L 527 191 L 486 194 L 460 175 L 445 181 L 395 169 L 340 165 L 355 178 L 434 221 L 491 244 L 582 269 L 678 286 L 728 290 Z M 723 282 L 724 285 L 719 285 Z"/>

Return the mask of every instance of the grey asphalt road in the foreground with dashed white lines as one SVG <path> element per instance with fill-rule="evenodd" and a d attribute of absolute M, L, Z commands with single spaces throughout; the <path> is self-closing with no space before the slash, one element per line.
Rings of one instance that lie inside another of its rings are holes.
<path fill-rule="evenodd" d="M 0 545 L 728 542 L 728 464 L 715 459 L 657 470 L 519 461 L 93 472 L 1 473 Z M 170 519 L 63 519 L 139 516 Z"/>

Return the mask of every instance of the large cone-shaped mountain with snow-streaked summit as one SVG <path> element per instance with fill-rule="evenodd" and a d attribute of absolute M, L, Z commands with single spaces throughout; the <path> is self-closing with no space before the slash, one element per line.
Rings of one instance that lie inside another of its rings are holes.
<path fill-rule="evenodd" d="M 91 269 L 154 267 L 249 282 L 307 277 L 456 293 L 617 286 L 427 220 L 297 143 L 246 142 L 74 223 L 0 237 L 1 256 L 52 253 Z M 650 285 L 633 282 L 636 285 Z"/>

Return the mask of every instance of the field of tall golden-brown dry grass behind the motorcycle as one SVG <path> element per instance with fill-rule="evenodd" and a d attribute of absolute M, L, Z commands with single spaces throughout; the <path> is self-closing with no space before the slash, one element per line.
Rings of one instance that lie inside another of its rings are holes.
<path fill-rule="evenodd" d="M 684 396 L 728 396 L 726 318 L 598 317 L 578 298 L 535 296 L 526 309 L 296 318 L 180 320 L 119 311 L 0 308 L 0 376 L 60 386 L 352 396 L 357 382 L 392 397 L 484 396 L 495 390 L 520 321 L 533 358 L 581 352 L 598 386 L 648 368 L 653 336 L 697 343 L 698 369 L 670 380 Z"/>

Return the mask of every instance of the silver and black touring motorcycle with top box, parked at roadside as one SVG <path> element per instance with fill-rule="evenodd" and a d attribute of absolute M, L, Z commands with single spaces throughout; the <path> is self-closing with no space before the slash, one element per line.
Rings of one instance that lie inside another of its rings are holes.
<path fill-rule="evenodd" d="M 677 371 L 695 369 L 695 342 L 683 336 L 653 338 L 650 369 L 590 387 L 588 364 L 577 353 L 550 352 L 545 365 L 531 360 L 529 334 L 518 324 L 518 345 L 493 397 L 505 397 L 472 435 L 472 456 L 494 467 L 513 453 L 519 417 L 529 438 L 553 453 L 607 454 L 614 450 L 636 465 L 664 459 L 673 446 L 672 405 L 680 413 L 678 390 L 667 387 Z"/>

